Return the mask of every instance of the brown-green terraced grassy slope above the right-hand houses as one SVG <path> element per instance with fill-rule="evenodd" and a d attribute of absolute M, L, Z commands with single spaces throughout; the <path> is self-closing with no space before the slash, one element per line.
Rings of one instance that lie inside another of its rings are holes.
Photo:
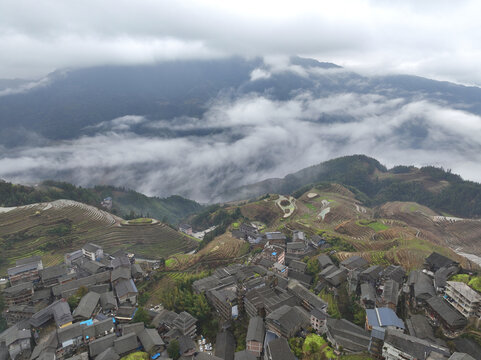
<path fill-rule="evenodd" d="M 319 196 L 309 199 L 307 193 L 312 192 Z M 308 189 L 299 196 L 294 215 L 282 219 L 282 212 L 279 209 L 276 211 L 275 199 L 273 195 L 242 205 L 242 214 L 251 220 L 266 223 L 268 230 L 290 234 L 290 230 L 301 229 L 309 234 L 323 233 L 328 238 L 340 238 L 351 244 L 357 254 L 375 264 L 397 263 L 407 269 L 418 268 L 426 256 L 437 251 L 470 266 L 466 259 L 448 247 L 452 234 L 443 236 L 444 232 L 439 229 L 437 233 L 434 232 L 442 226 L 431 220 L 436 212 L 419 204 L 390 203 L 386 204 L 389 211 L 380 211 L 377 207 L 369 208 L 361 204 L 348 189 L 330 184 Z M 322 220 L 318 215 L 327 207 L 330 211 Z M 266 212 L 269 216 L 266 216 Z M 406 213 L 425 221 L 413 223 L 410 217 L 404 216 Z M 344 259 L 351 254 L 339 251 L 338 257 Z"/>

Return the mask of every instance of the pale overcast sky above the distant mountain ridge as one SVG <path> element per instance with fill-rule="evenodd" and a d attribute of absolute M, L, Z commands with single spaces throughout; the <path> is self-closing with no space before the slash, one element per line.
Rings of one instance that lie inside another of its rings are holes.
<path fill-rule="evenodd" d="M 303 55 L 481 85 L 481 2 L 4 0 L 0 78 L 230 55 Z"/>

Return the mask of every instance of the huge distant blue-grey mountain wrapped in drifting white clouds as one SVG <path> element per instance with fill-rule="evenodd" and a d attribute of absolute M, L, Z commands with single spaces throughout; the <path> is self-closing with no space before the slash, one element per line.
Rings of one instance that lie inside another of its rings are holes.
<path fill-rule="evenodd" d="M 100 66 L 12 86 L 0 95 L 0 177 L 15 183 L 215 203 L 340 155 L 395 164 L 403 154 L 473 179 L 481 161 L 480 88 L 313 59 Z"/>

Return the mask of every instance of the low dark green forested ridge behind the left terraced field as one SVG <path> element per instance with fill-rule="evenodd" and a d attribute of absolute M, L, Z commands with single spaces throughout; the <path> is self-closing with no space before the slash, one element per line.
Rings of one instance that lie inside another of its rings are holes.
<path fill-rule="evenodd" d="M 182 219 L 202 209 L 202 205 L 181 196 L 161 199 L 113 186 L 82 188 L 65 182 L 45 181 L 31 187 L 0 181 L 2 207 L 68 199 L 101 208 L 101 202 L 106 197 L 112 197 L 111 211 L 114 214 L 129 218 L 154 217 L 171 224 L 178 224 Z"/>

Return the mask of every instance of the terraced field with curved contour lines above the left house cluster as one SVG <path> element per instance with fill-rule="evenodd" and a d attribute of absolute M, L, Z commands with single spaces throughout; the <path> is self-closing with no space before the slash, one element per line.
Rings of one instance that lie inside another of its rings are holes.
<path fill-rule="evenodd" d="M 195 240 L 163 223 L 122 226 L 122 221 L 70 200 L 0 208 L 0 274 L 16 259 L 31 255 L 41 255 L 46 265 L 59 263 L 64 253 L 86 242 L 146 257 L 167 257 L 197 247 Z"/>

